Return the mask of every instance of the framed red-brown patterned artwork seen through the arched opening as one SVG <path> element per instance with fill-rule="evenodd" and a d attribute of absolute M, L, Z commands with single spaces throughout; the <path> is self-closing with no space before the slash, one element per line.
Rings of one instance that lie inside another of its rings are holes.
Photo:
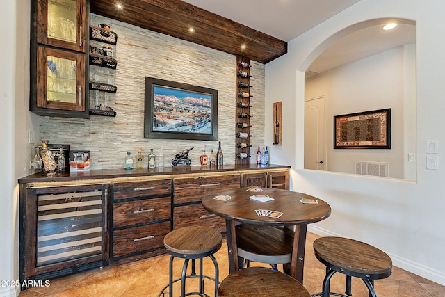
<path fill-rule="evenodd" d="M 391 148 L 391 109 L 334 116 L 338 148 Z"/>

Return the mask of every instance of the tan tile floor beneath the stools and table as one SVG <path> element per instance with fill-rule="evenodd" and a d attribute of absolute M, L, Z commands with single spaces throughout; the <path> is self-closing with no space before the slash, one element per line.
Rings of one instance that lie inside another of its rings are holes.
<path fill-rule="evenodd" d="M 312 250 L 312 243 L 318 236 L 307 234 L 306 259 L 305 259 L 305 281 L 304 285 L 310 294 L 321 291 L 321 284 L 325 275 L 325 266 L 318 262 Z M 228 274 L 227 245 L 215 254 L 220 266 L 220 280 Z M 106 266 L 85 271 L 76 275 L 51 280 L 49 287 L 33 287 L 22 291 L 19 297 L 156 297 L 161 289 L 168 283 L 168 262 L 170 256 L 163 255 L 145 259 L 131 264 L 121 266 Z M 254 263 L 252 266 L 264 266 Z M 175 277 L 180 276 L 181 261 L 175 260 Z M 213 264 L 210 259 L 204 261 L 204 272 L 213 276 Z M 205 273 L 204 273 L 205 274 Z M 188 289 L 197 288 L 195 278 L 187 282 Z M 205 280 L 206 293 L 213 296 L 212 283 Z M 196 291 L 197 289 L 193 289 Z M 336 273 L 331 280 L 331 291 L 344 293 L 345 276 Z M 429 297 L 445 296 L 445 287 L 430 280 L 419 277 L 401 268 L 394 267 L 389 278 L 375 281 L 375 291 L 378 297 Z M 175 296 L 179 296 L 179 283 L 174 286 Z M 368 291 L 362 280 L 353 278 L 353 296 L 367 297 Z M 169 297 L 165 294 L 165 297 Z M 269 296 L 267 296 L 269 297 Z"/>

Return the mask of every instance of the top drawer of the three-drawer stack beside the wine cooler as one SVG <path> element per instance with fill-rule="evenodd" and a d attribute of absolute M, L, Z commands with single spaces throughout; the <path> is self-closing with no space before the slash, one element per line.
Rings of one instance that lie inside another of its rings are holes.
<path fill-rule="evenodd" d="M 146 182 L 115 182 L 114 200 L 154 195 L 170 195 L 171 179 L 150 180 Z"/>

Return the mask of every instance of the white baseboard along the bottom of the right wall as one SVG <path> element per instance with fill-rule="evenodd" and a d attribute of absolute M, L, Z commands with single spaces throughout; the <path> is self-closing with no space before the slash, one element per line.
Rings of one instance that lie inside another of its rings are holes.
<path fill-rule="evenodd" d="M 307 231 L 320 236 L 341 236 L 341 234 L 335 234 L 315 225 L 308 225 Z M 442 271 L 437 271 L 435 269 L 423 266 L 419 263 L 412 262 L 409 259 L 398 257 L 397 255 L 393 255 L 390 253 L 388 253 L 388 255 L 389 257 L 391 257 L 394 266 L 402 268 L 405 271 L 410 271 L 410 273 L 414 273 L 421 276 L 422 278 L 426 278 L 427 280 L 431 280 L 432 282 L 437 282 L 438 284 L 442 284 L 443 286 L 445 286 L 445 273 L 443 273 Z"/>

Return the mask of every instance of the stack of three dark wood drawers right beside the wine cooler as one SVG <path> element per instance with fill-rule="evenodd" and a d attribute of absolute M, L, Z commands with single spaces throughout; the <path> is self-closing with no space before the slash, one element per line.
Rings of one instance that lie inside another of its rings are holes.
<path fill-rule="evenodd" d="M 171 179 L 113 183 L 113 260 L 163 252 L 163 238 L 172 225 L 171 197 Z"/>

